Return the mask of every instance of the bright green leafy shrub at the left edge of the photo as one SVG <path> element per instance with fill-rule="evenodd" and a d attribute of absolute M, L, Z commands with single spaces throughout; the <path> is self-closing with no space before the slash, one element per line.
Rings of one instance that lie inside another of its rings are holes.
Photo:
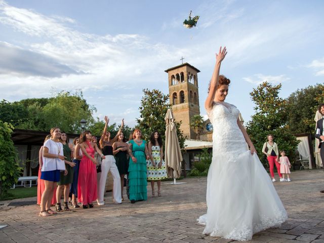
<path fill-rule="evenodd" d="M 0 120 L 0 198 L 4 198 L 8 189 L 17 183 L 21 168 L 11 134 L 14 127 Z"/>

